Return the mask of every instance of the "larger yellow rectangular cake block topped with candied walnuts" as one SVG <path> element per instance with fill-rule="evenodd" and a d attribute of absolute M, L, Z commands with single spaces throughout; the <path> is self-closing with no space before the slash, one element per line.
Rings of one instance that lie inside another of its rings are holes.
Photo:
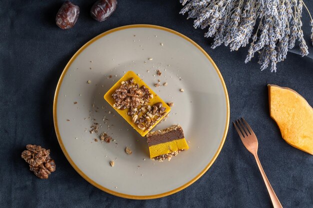
<path fill-rule="evenodd" d="M 104 99 L 142 137 L 170 111 L 170 107 L 133 71 L 125 73 L 105 93 Z"/>

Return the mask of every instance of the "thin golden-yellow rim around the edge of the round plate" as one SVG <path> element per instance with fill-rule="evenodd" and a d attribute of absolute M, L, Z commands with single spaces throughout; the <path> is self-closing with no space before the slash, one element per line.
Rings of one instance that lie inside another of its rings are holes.
<path fill-rule="evenodd" d="M 69 157 L 64 145 L 63 145 L 63 142 L 62 142 L 62 138 L 59 134 L 59 131 L 58 131 L 58 124 L 57 124 L 57 115 L 56 115 L 56 109 L 57 109 L 57 99 L 58 99 L 58 92 L 59 92 L 59 89 L 60 89 L 60 86 L 62 84 L 62 81 L 63 81 L 63 78 L 64 78 L 64 75 L 66 74 L 66 71 L 68 70 L 69 66 L 71 65 L 71 63 L 76 59 L 76 57 L 88 46 L 90 45 L 91 43 L 93 43 L 94 41 L 96 41 L 97 39 L 107 35 L 107 34 L 110 34 L 112 32 L 116 32 L 116 31 L 119 31 L 119 30 L 122 30 L 122 29 L 128 29 L 128 28 L 136 28 L 136 27 L 144 27 L 144 28 L 155 28 L 155 29 L 160 29 L 160 30 L 165 30 L 167 32 L 170 32 L 170 33 L 173 33 L 173 34 L 176 34 L 182 38 L 184 38 L 185 40 L 189 41 L 190 43 L 192 43 L 195 47 L 197 47 L 206 57 L 207 59 L 211 62 L 211 64 L 214 66 L 214 69 L 216 70 L 216 73 L 218 74 L 218 77 L 220 79 L 220 82 L 223 86 L 223 89 L 224 89 L 224 93 L 225 93 L 225 100 L 226 100 L 226 123 L 225 123 L 225 130 L 224 130 L 224 134 L 223 134 L 223 137 L 222 137 L 222 140 L 219 144 L 219 147 L 216 151 L 216 153 L 214 154 L 212 160 L 207 164 L 207 166 L 196 176 L 194 177 L 191 181 L 187 182 L 186 184 L 176 188 L 176 189 L 173 189 L 171 191 L 168 191 L 168 192 L 165 192 L 165 193 L 161 193 L 161 194 L 157 194 L 157 195 L 148 195 L 148 196 L 135 196 L 135 195 L 127 195 L 127 194 L 122 194 L 122 193 L 118 193 L 118 192 L 115 192 L 115 191 L 112 191 L 110 189 L 107 189 L 105 187 L 102 187 L 100 186 L 99 184 L 95 183 L 94 181 L 92 181 L 88 176 L 86 176 L 77 166 L 76 164 L 72 161 L 72 159 Z M 168 195 L 171 195 L 171 194 L 174 194 L 176 192 L 179 192 L 185 188 L 187 188 L 188 186 L 190 186 L 191 184 L 193 184 L 196 180 L 198 180 L 210 167 L 211 165 L 214 163 L 214 161 L 216 160 L 221 148 L 223 147 L 223 144 L 225 142 L 225 139 L 226 139 L 226 135 L 227 135 L 227 131 L 228 131 L 228 125 L 229 125 L 229 99 L 228 99 L 228 93 L 227 93 L 227 89 L 226 89 L 226 85 L 224 83 L 224 80 L 220 74 L 220 71 L 218 70 L 216 64 L 214 63 L 214 61 L 211 59 L 211 57 L 197 44 L 195 43 L 193 40 L 191 40 L 190 38 L 186 37 L 185 35 L 179 33 L 179 32 L 176 32 L 172 29 L 169 29 L 169 28 L 166 28 L 166 27 L 162 27 L 162 26 L 157 26 L 157 25 L 151 25 L 151 24 L 132 24 L 132 25 L 125 25 L 125 26 L 121 26 L 121 27 L 116 27 L 116 28 L 113 28 L 113 29 L 110 29 L 106 32 L 103 32 L 97 36 L 95 36 L 94 38 L 92 38 L 91 40 L 89 40 L 87 43 L 85 43 L 81 48 L 79 48 L 79 50 L 71 57 L 71 59 L 68 61 L 68 63 L 66 64 L 59 80 L 58 80 L 58 83 L 56 85 L 56 90 L 55 90 L 55 95 L 54 95 L 54 100 L 53 100 L 53 122 L 54 122 L 54 129 L 55 129 L 55 133 L 56 133 L 56 137 L 57 137 L 57 140 L 58 140 L 58 143 L 66 157 L 66 159 L 68 160 L 68 162 L 70 163 L 70 165 L 77 171 L 77 173 L 82 177 L 84 178 L 87 182 L 89 182 L 90 184 L 92 184 L 93 186 L 95 186 L 96 188 L 108 193 L 108 194 L 111 194 L 111 195 L 114 195 L 114 196 L 117 196 L 117 197 L 122 197 L 122 198 L 126 198 L 126 199 L 133 199 L 133 200 L 148 200 L 148 199 L 156 199 L 156 198 L 161 198 L 161 197 L 166 197 Z"/>

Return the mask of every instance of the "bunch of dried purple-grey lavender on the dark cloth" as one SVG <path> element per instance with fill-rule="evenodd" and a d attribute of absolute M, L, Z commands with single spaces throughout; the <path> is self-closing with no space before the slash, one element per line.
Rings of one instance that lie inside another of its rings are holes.
<path fill-rule="evenodd" d="M 184 7 L 179 13 L 194 18 L 194 28 L 208 27 L 205 37 L 213 37 L 211 45 L 229 45 L 230 51 L 249 44 L 245 63 L 259 53 L 261 70 L 286 58 L 287 51 L 298 41 L 301 55 L 307 55 L 307 45 L 301 29 L 302 8 L 310 16 L 311 39 L 313 20 L 303 0 L 180 0 Z M 257 25 L 257 26 L 255 26 Z"/>

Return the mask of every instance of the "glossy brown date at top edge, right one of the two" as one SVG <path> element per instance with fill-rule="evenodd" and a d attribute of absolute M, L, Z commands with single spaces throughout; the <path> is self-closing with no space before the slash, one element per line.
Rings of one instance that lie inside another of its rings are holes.
<path fill-rule="evenodd" d="M 97 21 L 104 21 L 114 11 L 117 0 L 97 0 L 90 9 L 90 15 Z"/>

